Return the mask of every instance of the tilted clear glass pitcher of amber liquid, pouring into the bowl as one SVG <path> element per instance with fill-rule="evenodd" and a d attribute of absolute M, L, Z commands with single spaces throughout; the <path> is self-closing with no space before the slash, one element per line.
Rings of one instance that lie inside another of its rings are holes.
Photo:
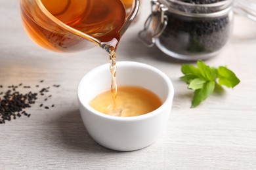
<path fill-rule="evenodd" d="M 116 50 L 139 0 L 20 0 L 20 8 L 28 35 L 48 50 L 76 52 L 95 44 Z"/>

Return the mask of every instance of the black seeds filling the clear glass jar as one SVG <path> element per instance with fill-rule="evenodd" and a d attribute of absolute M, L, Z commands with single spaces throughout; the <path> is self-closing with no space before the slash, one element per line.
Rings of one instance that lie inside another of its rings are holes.
<path fill-rule="evenodd" d="M 224 0 L 179 0 L 193 4 L 211 4 Z M 183 10 L 183 6 L 174 5 L 175 10 Z M 203 10 L 203 11 L 202 11 Z M 207 14 L 210 8 L 186 8 L 188 14 Z M 164 48 L 173 53 L 194 56 L 219 51 L 226 41 L 230 30 L 229 16 L 223 15 L 214 18 L 188 18 L 173 12 L 166 12 L 168 23 L 160 36 L 159 41 Z M 179 37 L 186 35 L 188 41 Z M 183 44 L 177 45 L 177 44 Z"/>

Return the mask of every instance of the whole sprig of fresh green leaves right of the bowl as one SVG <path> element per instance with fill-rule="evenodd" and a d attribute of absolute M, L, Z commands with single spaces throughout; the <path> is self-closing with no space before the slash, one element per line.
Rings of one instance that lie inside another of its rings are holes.
<path fill-rule="evenodd" d="M 202 101 L 207 99 L 216 89 L 217 86 L 226 86 L 234 88 L 240 83 L 238 77 L 227 67 L 220 66 L 219 68 L 209 67 L 203 61 L 198 60 L 194 65 L 182 64 L 181 80 L 188 84 L 188 88 L 194 91 L 192 99 L 192 108 L 200 105 Z"/>

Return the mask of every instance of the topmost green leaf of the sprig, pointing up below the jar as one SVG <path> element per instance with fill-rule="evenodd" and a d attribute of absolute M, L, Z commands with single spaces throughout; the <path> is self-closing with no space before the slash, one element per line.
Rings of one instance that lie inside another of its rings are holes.
<path fill-rule="evenodd" d="M 198 69 L 205 80 L 212 81 L 217 78 L 217 71 L 215 68 L 209 67 L 209 65 L 206 65 L 202 60 L 198 60 L 196 65 L 198 65 Z"/>

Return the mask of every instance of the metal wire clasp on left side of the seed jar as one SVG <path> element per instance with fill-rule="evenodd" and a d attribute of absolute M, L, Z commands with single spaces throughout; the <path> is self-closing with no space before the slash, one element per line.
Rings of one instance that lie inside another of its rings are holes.
<path fill-rule="evenodd" d="M 158 0 L 151 1 L 152 13 L 148 16 L 144 24 L 144 29 L 139 32 L 139 39 L 148 47 L 155 44 L 155 39 L 163 33 L 167 25 L 168 18 L 165 11 L 168 10 L 165 5 Z"/>

